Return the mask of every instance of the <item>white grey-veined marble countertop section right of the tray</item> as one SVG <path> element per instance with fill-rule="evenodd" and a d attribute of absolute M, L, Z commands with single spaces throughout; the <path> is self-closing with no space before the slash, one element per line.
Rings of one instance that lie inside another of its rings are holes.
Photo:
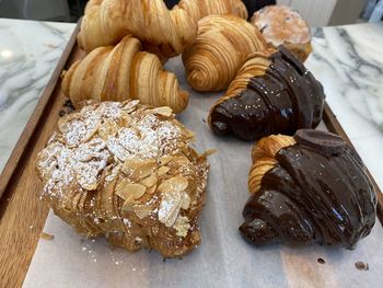
<path fill-rule="evenodd" d="M 383 189 L 383 23 L 317 28 L 306 67 Z"/>

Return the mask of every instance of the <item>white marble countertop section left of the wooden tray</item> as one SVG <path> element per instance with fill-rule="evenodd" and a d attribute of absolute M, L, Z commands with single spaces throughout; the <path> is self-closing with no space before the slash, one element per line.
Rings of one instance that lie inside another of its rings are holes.
<path fill-rule="evenodd" d="M 0 172 L 74 26 L 0 19 Z"/>

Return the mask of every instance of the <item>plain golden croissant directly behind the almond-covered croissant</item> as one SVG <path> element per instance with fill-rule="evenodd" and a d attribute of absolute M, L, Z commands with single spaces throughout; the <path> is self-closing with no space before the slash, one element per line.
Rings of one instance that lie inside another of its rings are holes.
<path fill-rule="evenodd" d="M 126 36 L 116 47 L 100 47 L 63 73 L 62 91 L 74 106 L 84 100 L 125 101 L 138 99 L 152 106 L 184 111 L 188 94 L 163 70 L 160 59 L 140 51 L 137 38 Z"/>

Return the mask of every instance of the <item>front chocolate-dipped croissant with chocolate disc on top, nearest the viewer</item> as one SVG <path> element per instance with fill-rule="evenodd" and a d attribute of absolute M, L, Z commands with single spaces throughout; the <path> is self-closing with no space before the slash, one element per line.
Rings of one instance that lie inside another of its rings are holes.
<path fill-rule="evenodd" d="M 376 196 L 356 151 L 337 135 L 301 129 L 253 149 L 240 231 L 249 243 L 353 249 L 375 222 Z"/>

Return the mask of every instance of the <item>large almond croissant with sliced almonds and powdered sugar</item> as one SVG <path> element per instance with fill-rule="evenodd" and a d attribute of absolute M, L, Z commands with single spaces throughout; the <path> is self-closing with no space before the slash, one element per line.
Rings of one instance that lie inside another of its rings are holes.
<path fill-rule="evenodd" d="M 181 256 L 201 241 L 207 154 L 169 107 L 102 102 L 60 118 L 37 155 L 42 199 L 85 237 Z"/>

